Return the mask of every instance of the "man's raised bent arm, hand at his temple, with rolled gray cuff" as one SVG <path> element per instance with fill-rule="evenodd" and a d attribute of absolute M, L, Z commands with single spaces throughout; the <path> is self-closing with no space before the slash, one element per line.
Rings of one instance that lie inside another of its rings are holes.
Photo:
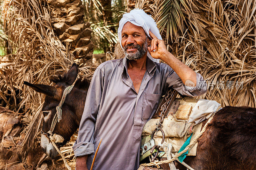
<path fill-rule="evenodd" d="M 153 58 L 163 60 L 172 68 L 168 73 L 166 83 L 182 95 L 199 96 L 204 94 L 207 90 L 207 84 L 202 75 L 196 73 L 172 55 L 166 49 L 164 41 L 157 39 L 151 31 L 149 31 L 149 35 L 153 38 L 151 47 L 148 47 L 150 55 Z"/>

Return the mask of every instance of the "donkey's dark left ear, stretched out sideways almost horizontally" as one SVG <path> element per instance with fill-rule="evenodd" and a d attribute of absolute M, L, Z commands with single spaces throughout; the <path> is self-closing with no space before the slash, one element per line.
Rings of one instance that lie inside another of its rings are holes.
<path fill-rule="evenodd" d="M 36 84 L 28 83 L 27 81 L 24 81 L 23 84 L 28 85 L 36 92 L 44 93 L 45 95 L 50 96 L 54 99 L 57 99 L 59 97 L 59 95 L 57 94 L 58 90 L 53 86 L 40 85 L 40 84 L 36 85 Z"/>

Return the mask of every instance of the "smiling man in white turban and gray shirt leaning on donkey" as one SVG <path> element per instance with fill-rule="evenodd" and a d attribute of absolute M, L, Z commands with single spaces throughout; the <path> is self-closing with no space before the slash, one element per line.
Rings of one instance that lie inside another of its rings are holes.
<path fill-rule="evenodd" d="M 138 9 L 124 14 L 118 35 L 125 57 L 95 70 L 73 146 L 77 170 L 90 169 L 101 138 L 93 169 L 138 169 L 142 128 L 168 87 L 190 96 L 206 92 L 202 76 L 167 51 L 152 20 Z"/>

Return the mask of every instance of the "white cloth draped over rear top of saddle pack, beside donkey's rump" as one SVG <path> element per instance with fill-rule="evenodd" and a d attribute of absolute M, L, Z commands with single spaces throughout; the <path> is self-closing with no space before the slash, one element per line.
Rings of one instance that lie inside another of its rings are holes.
<path fill-rule="evenodd" d="M 209 119 L 219 106 L 220 103 L 217 101 L 198 99 L 195 107 L 192 109 L 192 114 L 189 116 L 188 123 L 195 122 L 197 124 L 205 119 Z"/>

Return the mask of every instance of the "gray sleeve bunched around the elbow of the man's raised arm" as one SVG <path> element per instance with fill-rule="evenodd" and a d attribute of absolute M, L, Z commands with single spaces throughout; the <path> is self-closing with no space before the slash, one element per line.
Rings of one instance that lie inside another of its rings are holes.
<path fill-rule="evenodd" d="M 207 91 L 207 83 L 205 82 L 203 76 L 200 73 L 196 73 L 196 86 L 190 87 L 183 84 L 178 74 L 170 68 L 166 74 L 166 84 L 164 91 L 169 87 L 177 90 L 181 95 L 188 96 L 200 96 Z"/>

